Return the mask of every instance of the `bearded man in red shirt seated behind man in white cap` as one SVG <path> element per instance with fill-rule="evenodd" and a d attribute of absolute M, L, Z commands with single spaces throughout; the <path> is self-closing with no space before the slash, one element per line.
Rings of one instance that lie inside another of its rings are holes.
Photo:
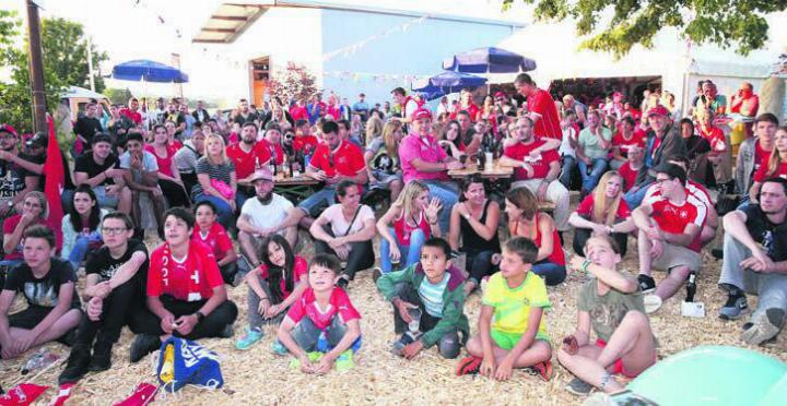
<path fill-rule="evenodd" d="M 237 203 L 243 207 L 246 199 L 252 198 L 256 192 L 251 181 L 257 168 L 268 166 L 270 153 L 262 143 L 257 142 L 257 124 L 247 121 L 240 129 L 240 142 L 227 146 L 227 157 L 235 164 L 237 176 Z"/>

